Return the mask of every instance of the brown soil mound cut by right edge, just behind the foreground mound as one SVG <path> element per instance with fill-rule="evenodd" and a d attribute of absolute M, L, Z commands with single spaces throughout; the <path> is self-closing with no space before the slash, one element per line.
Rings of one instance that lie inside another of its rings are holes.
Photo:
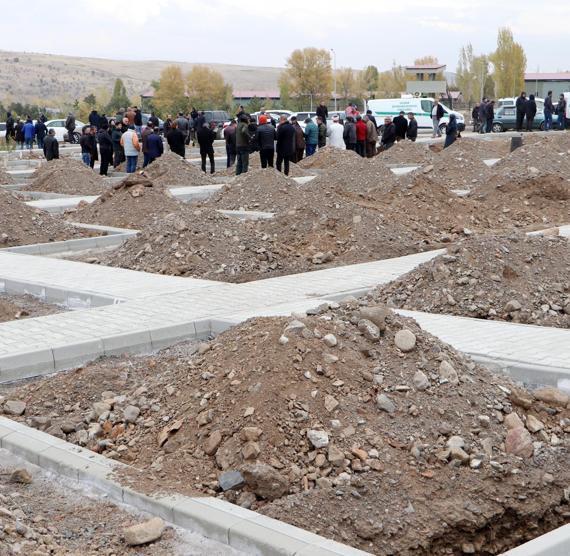
<path fill-rule="evenodd" d="M 570 328 L 570 244 L 558 237 L 478 237 L 379 288 L 392 307 Z"/>

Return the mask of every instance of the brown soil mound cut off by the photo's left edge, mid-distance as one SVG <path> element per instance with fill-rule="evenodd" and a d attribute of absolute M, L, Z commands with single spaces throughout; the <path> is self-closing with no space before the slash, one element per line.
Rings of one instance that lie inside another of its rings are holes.
<path fill-rule="evenodd" d="M 69 226 L 57 216 L 35 210 L 17 197 L 0 189 L 0 248 L 30 243 L 47 243 L 91 235 Z"/>

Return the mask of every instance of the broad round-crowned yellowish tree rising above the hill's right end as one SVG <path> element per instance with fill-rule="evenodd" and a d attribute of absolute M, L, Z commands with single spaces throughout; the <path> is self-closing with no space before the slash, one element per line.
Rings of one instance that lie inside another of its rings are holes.
<path fill-rule="evenodd" d="M 286 88 L 292 98 L 309 101 L 312 108 L 321 100 L 328 102 L 332 81 L 330 52 L 311 47 L 291 53 L 279 84 L 281 89 Z"/>

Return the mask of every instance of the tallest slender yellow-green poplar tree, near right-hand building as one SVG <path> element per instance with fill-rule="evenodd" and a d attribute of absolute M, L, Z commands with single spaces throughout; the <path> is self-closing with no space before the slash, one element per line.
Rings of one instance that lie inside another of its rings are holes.
<path fill-rule="evenodd" d="M 523 47 L 515 42 L 508 27 L 499 29 L 497 49 L 489 56 L 493 64 L 495 93 L 499 97 L 512 97 L 524 88 L 526 55 Z"/>

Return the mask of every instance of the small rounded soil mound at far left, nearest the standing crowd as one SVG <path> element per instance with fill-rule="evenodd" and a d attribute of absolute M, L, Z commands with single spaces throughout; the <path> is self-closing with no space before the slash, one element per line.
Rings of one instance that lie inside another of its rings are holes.
<path fill-rule="evenodd" d="M 108 186 L 99 174 L 73 158 L 50 160 L 33 174 L 23 191 L 45 191 L 65 195 L 99 195 Z"/>

